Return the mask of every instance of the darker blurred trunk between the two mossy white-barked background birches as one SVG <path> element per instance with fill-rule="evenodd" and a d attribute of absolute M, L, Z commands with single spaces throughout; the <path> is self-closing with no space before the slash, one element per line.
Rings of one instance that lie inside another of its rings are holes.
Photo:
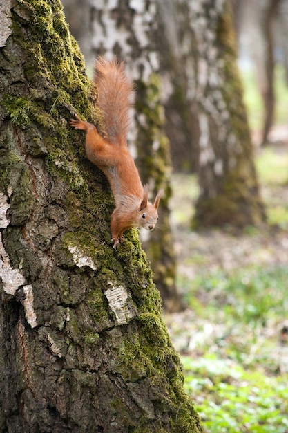
<path fill-rule="evenodd" d="M 157 0 L 157 46 L 164 82 L 162 100 L 173 167 L 179 172 L 198 168 L 199 126 L 193 68 L 195 38 L 189 20 L 189 1 Z"/>

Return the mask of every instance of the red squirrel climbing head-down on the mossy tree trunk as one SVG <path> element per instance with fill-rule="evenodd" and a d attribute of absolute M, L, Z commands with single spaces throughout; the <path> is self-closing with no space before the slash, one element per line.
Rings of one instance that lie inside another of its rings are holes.
<path fill-rule="evenodd" d="M 70 126 L 86 132 L 86 155 L 108 178 L 115 199 L 111 216 L 113 248 L 124 242 L 123 233 L 132 227 L 152 230 L 158 219 L 157 208 L 163 190 L 154 203 L 148 201 L 148 185 L 142 185 L 134 160 L 128 151 L 127 133 L 133 84 L 124 73 L 123 62 L 98 57 L 95 64 L 98 107 L 102 112 L 105 133 L 84 122 L 75 114 Z"/>

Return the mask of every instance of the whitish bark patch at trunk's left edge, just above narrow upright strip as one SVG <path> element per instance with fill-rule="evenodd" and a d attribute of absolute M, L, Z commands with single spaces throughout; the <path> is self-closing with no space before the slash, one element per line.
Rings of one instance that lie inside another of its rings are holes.
<path fill-rule="evenodd" d="M 20 286 L 25 284 L 26 280 L 17 268 L 12 268 L 9 256 L 2 243 L 2 234 L 0 233 L 0 278 L 3 283 L 4 292 L 8 295 L 15 295 Z"/>

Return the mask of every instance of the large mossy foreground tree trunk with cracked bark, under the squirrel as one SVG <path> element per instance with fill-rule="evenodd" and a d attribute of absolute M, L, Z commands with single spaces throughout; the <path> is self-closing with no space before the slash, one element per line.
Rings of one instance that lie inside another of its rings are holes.
<path fill-rule="evenodd" d="M 203 432 L 137 231 L 113 250 L 110 188 L 67 125 L 97 113 L 61 3 L 0 17 L 0 431 Z"/>

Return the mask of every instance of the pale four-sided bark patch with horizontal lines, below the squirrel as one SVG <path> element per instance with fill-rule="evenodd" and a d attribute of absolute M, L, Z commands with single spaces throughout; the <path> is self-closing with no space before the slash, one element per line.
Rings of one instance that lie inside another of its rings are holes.
<path fill-rule="evenodd" d="M 112 287 L 107 288 L 105 296 L 108 300 L 108 304 L 116 316 L 117 324 L 128 323 L 133 318 L 133 312 L 128 308 L 126 304 L 128 300 L 128 293 L 123 286 L 113 286 L 112 283 L 108 283 Z"/>

